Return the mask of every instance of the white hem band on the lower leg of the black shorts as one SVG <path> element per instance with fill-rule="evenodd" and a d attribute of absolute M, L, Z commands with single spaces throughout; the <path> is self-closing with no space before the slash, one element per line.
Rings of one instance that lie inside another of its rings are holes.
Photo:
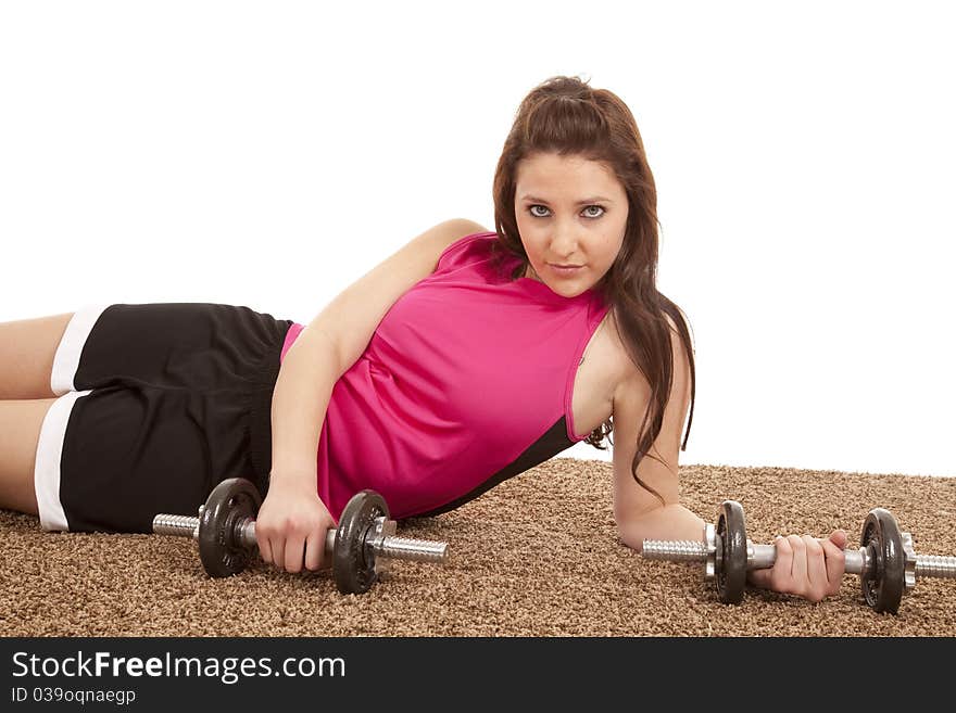
<path fill-rule="evenodd" d="M 63 438 L 66 436 L 66 424 L 70 422 L 73 405 L 76 399 L 89 393 L 89 391 L 74 391 L 58 398 L 50 406 L 43 425 L 40 426 L 37 460 L 34 466 L 34 488 L 37 494 L 40 527 L 43 530 L 70 530 L 63 504 L 60 501 L 60 459 L 63 455 Z"/>

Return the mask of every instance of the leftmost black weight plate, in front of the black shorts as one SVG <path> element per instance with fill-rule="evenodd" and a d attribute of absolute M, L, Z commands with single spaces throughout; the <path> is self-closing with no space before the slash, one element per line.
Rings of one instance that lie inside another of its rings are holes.
<path fill-rule="evenodd" d="M 259 489 L 244 478 L 227 478 L 213 488 L 199 519 L 199 559 L 212 577 L 238 574 L 249 564 L 250 549 L 239 540 L 238 525 L 255 518 Z"/>

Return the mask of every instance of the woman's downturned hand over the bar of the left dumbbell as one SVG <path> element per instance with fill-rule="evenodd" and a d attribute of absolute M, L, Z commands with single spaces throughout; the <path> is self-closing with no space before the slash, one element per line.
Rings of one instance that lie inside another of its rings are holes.
<path fill-rule="evenodd" d="M 255 518 L 255 540 L 262 559 L 286 572 L 327 566 L 326 532 L 336 526 L 319 499 L 315 479 L 273 476 Z"/>

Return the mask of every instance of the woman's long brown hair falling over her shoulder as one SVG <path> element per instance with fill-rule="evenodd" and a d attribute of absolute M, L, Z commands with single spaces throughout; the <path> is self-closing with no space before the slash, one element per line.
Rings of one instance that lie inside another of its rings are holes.
<path fill-rule="evenodd" d="M 694 418 L 695 371 L 693 346 L 680 308 L 657 291 L 657 188 L 647 165 L 644 144 L 633 114 L 616 94 L 592 89 L 577 77 L 551 77 L 521 101 L 494 171 L 494 227 L 504 251 L 519 257 L 512 279 L 525 273 L 530 262 L 515 218 L 515 174 L 518 162 L 537 153 L 581 156 L 609 167 L 628 196 L 624 244 L 607 273 L 595 284 L 612 305 L 625 348 L 651 386 L 651 398 L 641 422 L 631 472 L 639 485 L 664 499 L 638 478 L 638 463 L 661 433 L 674 379 L 669 315 L 683 342 L 691 369 L 691 410 L 681 450 L 687 450 Z M 647 423 L 650 422 L 650 428 Z M 595 448 L 614 430 L 613 418 L 584 440 Z M 614 440 L 609 438 L 614 445 Z M 661 461 L 663 462 L 663 461 Z"/>

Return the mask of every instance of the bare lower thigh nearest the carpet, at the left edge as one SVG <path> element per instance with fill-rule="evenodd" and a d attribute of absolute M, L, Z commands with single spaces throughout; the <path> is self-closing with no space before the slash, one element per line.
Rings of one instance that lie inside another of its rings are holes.
<path fill-rule="evenodd" d="M 0 402 L 0 508 L 38 514 L 34 466 L 40 426 L 55 398 Z"/>

